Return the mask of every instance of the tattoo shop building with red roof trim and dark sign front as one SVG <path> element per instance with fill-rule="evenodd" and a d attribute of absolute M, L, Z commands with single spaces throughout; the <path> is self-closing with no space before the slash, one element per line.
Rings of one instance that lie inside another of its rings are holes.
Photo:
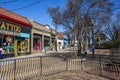
<path fill-rule="evenodd" d="M 3 54 L 30 53 L 30 33 L 32 25 L 27 18 L 0 8 L 0 47 Z"/>

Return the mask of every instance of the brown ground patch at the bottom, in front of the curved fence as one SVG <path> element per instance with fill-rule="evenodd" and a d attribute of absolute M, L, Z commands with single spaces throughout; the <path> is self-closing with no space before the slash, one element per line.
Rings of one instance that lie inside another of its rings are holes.
<path fill-rule="evenodd" d="M 41 77 L 32 78 L 31 80 L 109 80 L 97 75 L 92 75 L 80 71 L 68 71 L 58 74 L 51 74 Z"/>

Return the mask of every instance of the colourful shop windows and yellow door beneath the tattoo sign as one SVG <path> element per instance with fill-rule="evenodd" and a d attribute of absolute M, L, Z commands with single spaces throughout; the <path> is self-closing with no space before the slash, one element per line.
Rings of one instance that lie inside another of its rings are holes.
<path fill-rule="evenodd" d="M 0 35 L 0 46 L 4 54 L 28 53 L 29 39 L 9 35 Z"/>

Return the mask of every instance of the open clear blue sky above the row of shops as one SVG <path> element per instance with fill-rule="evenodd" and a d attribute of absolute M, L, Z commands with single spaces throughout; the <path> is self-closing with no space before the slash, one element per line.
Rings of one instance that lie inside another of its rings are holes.
<path fill-rule="evenodd" d="M 9 3 L 3 3 L 6 1 L 14 1 Z M 60 6 L 64 7 L 66 0 L 0 0 L 0 7 L 3 7 L 7 10 L 14 10 L 16 8 L 21 8 L 32 3 L 38 2 L 40 3 L 33 5 L 31 7 L 15 10 L 15 12 L 21 16 L 27 17 L 28 19 L 32 19 L 34 21 L 39 22 L 40 24 L 48 24 L 51 28 L 54 29 L 52 25 L 52 19 L 47 13 L 47 7 L 55 7 Z"/>

